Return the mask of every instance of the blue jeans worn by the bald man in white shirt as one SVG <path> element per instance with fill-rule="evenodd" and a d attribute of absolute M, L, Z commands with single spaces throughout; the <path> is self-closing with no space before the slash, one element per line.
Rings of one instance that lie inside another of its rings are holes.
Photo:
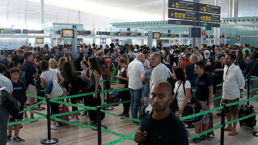
<path fill-rule="evenodd" d="M 133 90 L 130 88 L 132 103 L 131 103 L 131 112 L 132 118 L 138 119 L 138 107 L 140 104 L 140 100 L 142 98 L 142 89 Z"/>

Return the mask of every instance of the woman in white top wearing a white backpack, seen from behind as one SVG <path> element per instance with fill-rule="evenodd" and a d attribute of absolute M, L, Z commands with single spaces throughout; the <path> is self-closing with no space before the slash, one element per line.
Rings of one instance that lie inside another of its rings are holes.
<path fill-rule="evenodd" d="M 61 76 L 61 74 L 56 70 L 56 69 L 51 69 L 49 67 L 49 63 L 46 60 L 43 60 L 40 63 L 40 67 L 42 69 L 42 74 L 40 75 L 41 79 L 41 87 L 45 88 L 45 86 L 52 81 L 52 78 L 56 81 L 60 80 L 60 84 L 64 83 L 64 78 Z M 58 114 L 59 109 L 58 109 L 58 104 L 50 102 L 50 109 L 51 109 L 51 115 Z M 56 130 L 57 121 L 53 120 L 53 125 L 51 125 L 51 129 Z"/>

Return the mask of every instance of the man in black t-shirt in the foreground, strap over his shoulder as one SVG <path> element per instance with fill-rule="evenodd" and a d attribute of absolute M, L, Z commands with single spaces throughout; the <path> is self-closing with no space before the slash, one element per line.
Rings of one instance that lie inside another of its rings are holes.
<path fill-rule="evenodd" d="M 169 110 L 169 103 L 173 100 L 170 83 L 157 81 L 150 92 L 150 104 L 143 106 L 140 111 L 140 126 L 135 134 L 135 142 L 146 145 L 187 145 L 188 138 L 182 121 Z M 145 122 L 147 111 L 150 113 Z M 145 128 L 143 132 L 141 128 Z"/>

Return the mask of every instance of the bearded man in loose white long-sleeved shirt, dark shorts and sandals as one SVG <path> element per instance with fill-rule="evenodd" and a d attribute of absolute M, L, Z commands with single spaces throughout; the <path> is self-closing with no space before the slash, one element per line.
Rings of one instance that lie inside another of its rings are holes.
<path fill-rule="evenodd" d="M 241 69 L 234 64 L 235 56 L 231 53 L 227 54 L 225 57 L 226 66 L 224 67 L 223 75 L 223 93 L 222 93 L 222 103 L 228 104 L 233 102 L 238 102 L 241 97 L 241 92 L 245 87 L 245 79 L 241 72 Z M 232 105 L 225 108 L 227 120 L 238 119 L 238 105 Z M 234 136 L 236 131 L 237 122 L 228 124 L 225 127 L 225 131 L 230 131 L 229 136 Z"/>

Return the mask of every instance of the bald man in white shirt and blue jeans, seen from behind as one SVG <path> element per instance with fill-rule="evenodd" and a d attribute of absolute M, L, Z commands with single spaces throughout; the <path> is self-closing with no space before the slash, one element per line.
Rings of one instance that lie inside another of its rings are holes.
<path fill-rule="evenodd" d="M 142 96 L 142 81 L 141 76 L 144 72 L 143 66 L 144 55 L 139 53 L 129 65 L 128 65 L 128 74 L 129 83 L 128 88 L 130 88 L 131 93 L 131 111 L 132 111 L 132 118 L 138 119 L 138 106 L 140 103 L 140 99 Z M 138 122 L 133 121 L 133 124 L 138 124 Z"/>

